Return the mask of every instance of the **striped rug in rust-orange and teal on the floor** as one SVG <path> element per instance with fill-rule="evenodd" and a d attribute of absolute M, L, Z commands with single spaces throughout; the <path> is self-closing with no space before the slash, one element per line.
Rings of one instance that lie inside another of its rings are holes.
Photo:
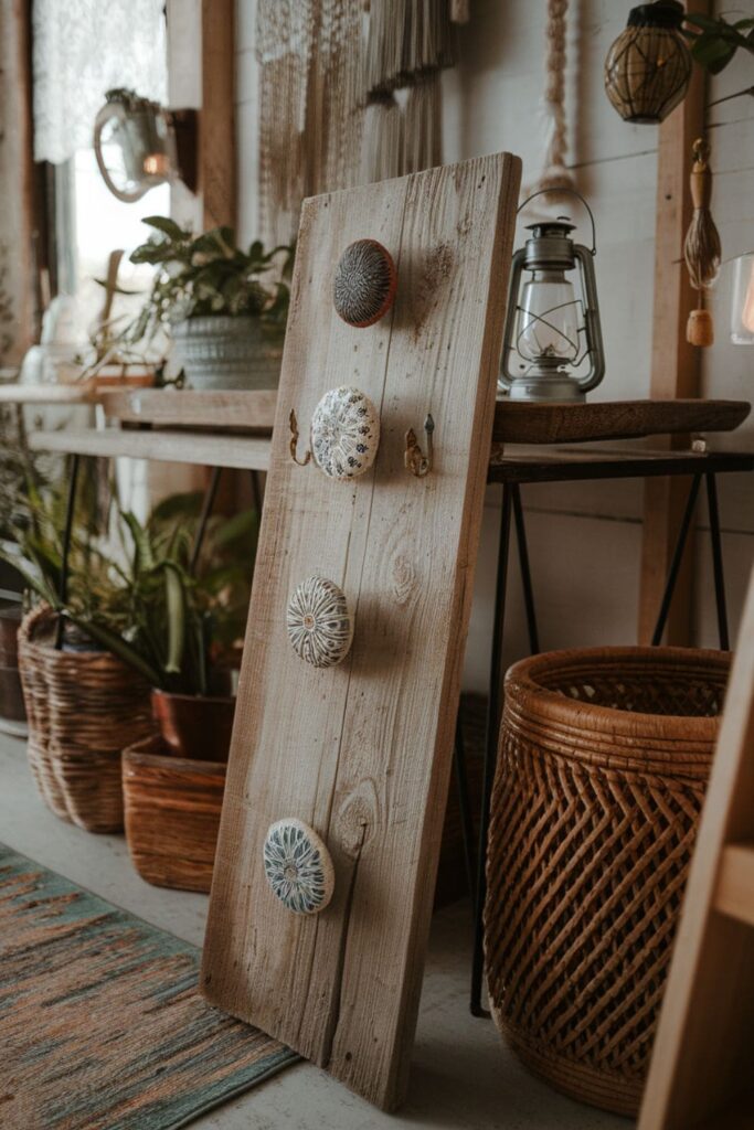
<path fill-rule="evenodd" d="M 0 845 L 0 1127 L 174 1130 L 297 1057 L 199 996 L 198 950 Z"/>

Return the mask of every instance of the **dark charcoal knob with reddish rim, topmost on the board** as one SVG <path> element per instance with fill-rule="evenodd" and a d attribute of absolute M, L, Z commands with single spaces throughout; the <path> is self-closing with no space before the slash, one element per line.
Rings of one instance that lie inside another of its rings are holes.
<path fill-rule="evenodd" d="M 332 302 L 349 325 L 379 322 L 392 306 L 398 275 L 392 255 L 376 240 L 357 240 L 340 257 Z"/>

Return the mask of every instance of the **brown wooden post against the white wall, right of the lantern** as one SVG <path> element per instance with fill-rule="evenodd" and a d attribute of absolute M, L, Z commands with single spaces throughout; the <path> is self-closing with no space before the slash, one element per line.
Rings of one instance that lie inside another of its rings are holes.
<path fill-rule="evenodd" d="M 709 14 L 711 3 L 710 0 L 688 0 L 686 8 Z M 686 319 L 695 305 L 695 294 L 684 263 L 683 243 L 692 214 L 691 147 L 704 127 L 704 72 L 694 66 L 688 94 L 659 128 L 650 383 L 653 400 L 697 397 L 700 392 L 700 350 L 686 341 Z M 688 437 L 674 436 L 668 443 L 682 447 L 687 445 Z M 640 643 L 649 643 L 652 635 L 687 492 L 688 484 L 684 479 L 648 479 L 644 486 Z M 691 643 L 692 596 L 693 531 L 668 617 L 668 643 Z"/>

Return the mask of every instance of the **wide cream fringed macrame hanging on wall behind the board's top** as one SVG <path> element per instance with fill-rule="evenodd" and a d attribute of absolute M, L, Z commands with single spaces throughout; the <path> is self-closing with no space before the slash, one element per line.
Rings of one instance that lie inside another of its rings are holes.
<path fill-rule="evenodd" d="M 259 0 L 260 234 L 306 195 L 441 163 L 440 72 L 468 0 Z"/>

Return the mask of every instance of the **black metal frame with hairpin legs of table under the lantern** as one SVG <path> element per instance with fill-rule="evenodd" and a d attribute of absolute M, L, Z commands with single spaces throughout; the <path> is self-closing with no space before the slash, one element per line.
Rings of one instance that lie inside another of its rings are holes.
<path fill-rule="evenodd" d="M 718 473 L 733 471 L 753 471 L 754 454 L 729 452 L 642 452 L 591 450 L 584 458 L 583 449 L 540 449 L 538 455 L 504 455 L 489 468 L 488 483 L 501 483 L 503 502 L 500 519 L 495 611 L 493 619 L 492 658 L 489 668 L 489 693 L 487 702 L 486 734 L 484 747 L 484 770 L 482 786 L 482 812 L 479 836 L 474 843 L 474 820 L 468 793 L 466 756 L 461 736 L 461 719 L 456 729 L 454 770 L 461 807 L 461 828 L 469 890 L 474 905 L 474 954 L 471 965 L 470 1010 L 474 1016 L 488 1017 L 489 1012 L 482 1006 L 484 979 L 484 903 L 486 896 L 486 849 L 489 831 L 489 806 L 497 762 L 497 744 L 502 718 L 503 676 L 502 644 L 505 620 L 505 599 L 508 590 L 508 560 L 511 541 L 511 524 L 515 527 L 519 565 L 521 570 L 523 602 L 526 610 L 529 649 L 531 654 L 539 651 L 539 635 L 534 600 L 534 588 L 529 567 L 529 553 L 526 538 L 523 507 L 521 504 L 521 485 L 531 483 L 565 483 L 573 480 L 596 480 L 617 478 L 651 478 L 664 476 L 691 476 L 691 487 L 678 530 L 664 597 L 658 609 L 657 623 L 652 634 L 652 645 L 662 638 L 667 623 L 670 602 L 675 592 L 684 548 L 688 539 L 694 510 L 699 498 L 702 480 L 707 488 L 707 502 L 710 521 L 712 570 L 714 577 L 714 597 L 718 618 L 720 647 L 729 647 L 728 618 L 725 594 L 725 575 L 722 548 L 720 539 L 720 516 L 718 511 L 717 483 Z"/>

